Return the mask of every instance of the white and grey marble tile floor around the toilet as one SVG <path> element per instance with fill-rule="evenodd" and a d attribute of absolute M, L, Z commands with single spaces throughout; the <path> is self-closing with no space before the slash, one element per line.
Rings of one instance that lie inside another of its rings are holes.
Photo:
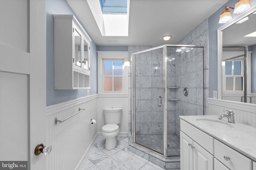
<path fill-rule="evenodd" d="M 116 147 L 106 150 L 104 137 L 98 137 L 80 170 L 164 170 L 131 152 L 128 137 L 116 138 Z"/>

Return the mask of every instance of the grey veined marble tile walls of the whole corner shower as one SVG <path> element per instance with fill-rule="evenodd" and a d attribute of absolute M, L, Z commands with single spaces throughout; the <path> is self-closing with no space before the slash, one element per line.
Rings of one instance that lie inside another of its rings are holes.
<path fill-rule="evenodd" d="M 186 37 L 184 37 L 178 44 L 183 45 L 198 45 L 204 47 L 204 68 L 203 70 L 202 65 L 196 65 L 196 64 L 202 64 L 197 63 L 197 60 L 202 57 L 202 51 L 194 50 L 190 53 L 186 53 L 183 56 L 180 57 L 177 61 L 174 60 L 170 64 L 168 64 L 168 86 L 178 86 L 180 83 L 180 87 L 185 87 L 186 81 L 188 82 L 188 88 L 189 88 L 189 95 L 187 98 L 184 98 L 181 96 L 183 88 L 176 89 L 176 90 L 170 90 L 168 89 L 168 96 L 175 96 L 175 98 L 181 98 L 178 102 L 168 102 L 168 134 L 175 133 L 178 137 L 180 136 L 180 115 L 202 115 L 204 110 L 204 114 L 207 114 L 207 101 L 204 100 L 208 98 L 208 19 L 204 20 L 200 25 L 198 25 L 194 30 L 192 30 Z M 131 57 L 132 53 L 150 49 L 154 46 L 129 46 L 129 57 Z M 160 50 L 160 49 L 159 49 Z M 162 74 L 161 72 L 154 72 L 152 74 L 152 57 L 154 55 L 158 55 L 158 59 L 160 59 L 159 55 L 162 53 L 162 51 L 153 51 L 149 53 L 144 53 L 142 56 L 138 57 L 137 62 L 140 63 L 140 68 L 146 68 L 146 69 L 140 69 L 136 70 L 136 81 L 137 86 L 140 86 L 140 90 L 137 89 L 136 92 L 136 99 L 140 99 L 136 102 L 137 103 L 137 115 L 136 115 L 136 134 L 162 134 L 162 123 L 163 123 L 163 117 L 162 114 L 158 114 L 161 112 L 161 110 L 153 110 L 149 111 L 149 108 L 152 107 L 156 103 L 157 100 L 155 99 L 158 94 L 162 94 L 162 91 L 160 90 L 160 87 L 158 87 L 159 84 L 156 84 L 160 82 L 160 77 L 157 75 Z M 162 50 L 162 49 L 161 49 Z M 185 56 L 186 55 L 186 56 Z M 162 54 L 161 54 L 162 56 Z M 154 58 L 154 57 L 153 57 Z M 162 58 L 161 58 L 162 59 Z M 184 64 L 186 63 L 186 66 Z M 151 66 L 149 66 L 151 65 Z M 174 66 L 175 65 L 175 66 Z M 199 66 L 199 67 L 198 67 Z M 178 70 L 175 70 L 178 69 Z M 195 69 L 195 70 L 193 70 Z M 169 72 L 170 70 L 170 72 Z M 200 71 L 201 70 L 201 71 Z M 199 72 L 198 72 L 199 71 Z M 202 71 L 204 72 L 204 87 L 202 83 L 202 79 L 197 81 L 196 78 L 202 77 Z M 176 74 L 174 74 L 176 72 Z M 149 74 L 152 75 L 152 78 L 150 79 Z M 201 75 L 199 75 L 201 74 Z M 138 80 L 138 75 L 142 75 L 142 77 Z M 184 80 L 184 81 L 183 81 Z M 193 82 L 194 81 L 194 82 Z M 129 70 L 129 93 L 131 92 L 131 72 Z M 189 83 L 190 82 L 190 83 Z M 196 83 L 195 83 L 196 82 Z M 151 88 L 150 88 L 151 87 Z M 202 95 L 202 90 L 204 91 L 204 98 Z M 175 92 L 174 92 L 175 91 Z M 180 96 L 179 96 L 180 95 Z M 183 95 L 183 94 L 182 94 Z M 131 95 L 130 95 L 131 96 Z M 150 96 L 152 97 L 150 99 Z M 162 95 L 159 95 L 162 96 Z M 200 97 L 202 96 L 202 97 Z M 172 98 L 172 97 L 171 97 Z M 202 106 L 202 101 L 204 102 L 204 107 Z M 131 104 L 131 98 L 129 98 L 129 104 Z M 151 104 L 151 105 L 150 105 Z M 142 111 L 142 107 L 146 107 L 146 111 Z M 129 106 L 129 131 L 131 130 L 131 110 Z M 175 108 L 175 109 L 174 109 Z M 138 113 L 139 112 L 139 113 Z"/>

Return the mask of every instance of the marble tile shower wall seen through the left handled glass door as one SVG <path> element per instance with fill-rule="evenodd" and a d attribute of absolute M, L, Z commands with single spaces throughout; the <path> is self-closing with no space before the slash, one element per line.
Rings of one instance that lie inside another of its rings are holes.
<path fill-rule="evenodd" d="M 140 51 L 144 48 L 139 47 Z M 153 69 L 157 63 L 160 69 Z M 163 107 L 158 107 L 158 96 L 163 96 L 163 50 L 157 49 L 135 57 L 136 134 L 163 134 Z"/>

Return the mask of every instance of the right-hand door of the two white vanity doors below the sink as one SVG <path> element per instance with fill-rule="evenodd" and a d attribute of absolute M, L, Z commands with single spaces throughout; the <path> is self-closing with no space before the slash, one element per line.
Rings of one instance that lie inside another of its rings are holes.
<path fill-rule="evenodd" d="M 193 142 L 193 170 L 213 170 L 214 156 Z"/>

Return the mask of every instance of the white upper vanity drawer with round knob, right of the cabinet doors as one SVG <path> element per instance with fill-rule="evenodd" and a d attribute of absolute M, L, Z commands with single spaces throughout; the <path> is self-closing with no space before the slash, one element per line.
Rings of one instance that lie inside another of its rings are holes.
<path fill-rule="evenodd" d="M 224 159 L 224 156 L 228 160 Z M 252 170 L 252 160 L 214 139 L 214 157 L 231 170 Z"/>

